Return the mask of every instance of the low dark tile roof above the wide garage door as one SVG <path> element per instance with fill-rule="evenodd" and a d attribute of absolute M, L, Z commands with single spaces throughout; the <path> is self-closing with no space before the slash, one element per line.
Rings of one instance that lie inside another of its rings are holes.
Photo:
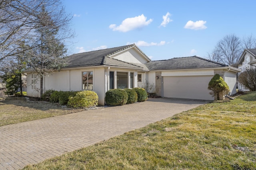
<path fill-rule="evenodd" d="M 225 67 L 228 65 L 216 63 L 201 57 L 181 57 L 169 60 L 152 61 L 146 63 L 149 70 L 175 70 L 175 69 L 188 69 L 188 68 L 214 68 Z"/>

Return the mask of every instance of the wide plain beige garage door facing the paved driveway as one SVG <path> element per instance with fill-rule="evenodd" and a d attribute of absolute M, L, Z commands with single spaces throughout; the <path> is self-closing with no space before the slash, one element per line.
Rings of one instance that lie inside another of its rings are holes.
<path fill-rule="evenodd" d="M 167 98 L 187 98 L 213 100 L 208 83 L 212 76 L 164 76 L 163 96 Z"/>

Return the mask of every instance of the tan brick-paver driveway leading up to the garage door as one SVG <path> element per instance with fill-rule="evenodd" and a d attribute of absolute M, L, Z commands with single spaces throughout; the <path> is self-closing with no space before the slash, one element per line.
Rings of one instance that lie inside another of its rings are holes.
<path fill-rule="evenodd" d="M 205 104 L 170 98 L 82 111 L 0 127 L 0 170 L 20 169 L 94 145 Z"/>

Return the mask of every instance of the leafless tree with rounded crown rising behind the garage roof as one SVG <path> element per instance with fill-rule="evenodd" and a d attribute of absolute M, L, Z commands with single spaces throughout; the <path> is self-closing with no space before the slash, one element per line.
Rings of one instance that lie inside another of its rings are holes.
<path fill-rule="evenodd" d="M 232 65 L 236 64 L 242 54 L 242 43 L 235 34 L 226 35 L 216 44 L 214 50 L 208 54 L 213 61 Z"/>

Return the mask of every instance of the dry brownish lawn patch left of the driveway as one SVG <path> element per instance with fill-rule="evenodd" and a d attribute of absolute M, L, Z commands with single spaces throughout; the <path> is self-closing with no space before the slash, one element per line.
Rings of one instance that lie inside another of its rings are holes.
<path fill-rule="evenodd" d="M 7 98 L 7 100 L 0 101 L 0 126 L 78 111 L 82 111 L 82 109 L 70 109 L 41 101 L 27 102 L 22 97 Z"/>

